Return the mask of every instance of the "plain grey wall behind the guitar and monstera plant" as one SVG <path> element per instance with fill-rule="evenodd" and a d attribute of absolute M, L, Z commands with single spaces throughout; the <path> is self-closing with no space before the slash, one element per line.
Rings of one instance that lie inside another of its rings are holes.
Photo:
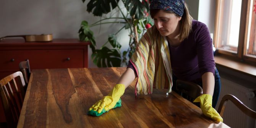
<path fill-rule="evenodd" d="M 92 24 L 99 20 L 86 11 L 87 2 L 82 0 L 0 0 L 0 37 L 24 34 L 53 34 L 53 38 L 79 38 L 81 21 Z M 109 34 L 120 28 L 118 24 L 93 27 L 97 46 L 107 41 Z M 121 50 L 128 48 L 128 33 L 121 31 L 119 41 Z M 126 45 L 127 44 L 127 45 Z M 126 46 L 124 46 L 126 45 Z M 91 61 L 89 67 L 96 67 Z"/>

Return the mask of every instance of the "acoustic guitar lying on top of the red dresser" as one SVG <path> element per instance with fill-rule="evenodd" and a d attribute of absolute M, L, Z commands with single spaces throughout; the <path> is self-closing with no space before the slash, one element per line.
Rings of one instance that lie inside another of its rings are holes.
<path fill-rule="evenodd" d="M 8 38 L 8 37 L 23 37 L 26 42 L 49 42 L 49 41 L 52 41 L 52 34 L 5 36 L 5 37 L 1 37 L 0 41 L 5 38 Z"/>

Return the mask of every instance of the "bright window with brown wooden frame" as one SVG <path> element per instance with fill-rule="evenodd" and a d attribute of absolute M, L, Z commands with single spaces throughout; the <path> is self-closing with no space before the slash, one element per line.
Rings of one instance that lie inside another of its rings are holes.
<path fill-rule="evenodd" d="M 217 53 L 256 62 L 256 0 L 216 0 Z"/>

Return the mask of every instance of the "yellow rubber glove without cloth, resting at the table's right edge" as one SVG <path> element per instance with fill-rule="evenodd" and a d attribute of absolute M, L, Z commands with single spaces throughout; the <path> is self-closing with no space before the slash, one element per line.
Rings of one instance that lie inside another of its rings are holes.
<path fill-rule="evenodd" d="M 220 114 L 212 107 L 212 96 L 210 94 L 203 94 L 197 97 L 193 102 L 200 102 L 201 110 L 204 115 L 216 120 L 217 122 L 223 122 Z"/>

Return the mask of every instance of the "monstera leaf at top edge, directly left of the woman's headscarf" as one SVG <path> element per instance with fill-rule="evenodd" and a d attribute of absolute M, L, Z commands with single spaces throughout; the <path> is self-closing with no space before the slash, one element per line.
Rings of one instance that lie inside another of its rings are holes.
<path fill-rule="evenodd" d="M 144 18 L 145 11 L 149 10 L 149 5 L 146 0 L 141 3 L 139 0 L 126 0 L 125 7 L 129 10 L 131 17 L 134 16 L 135 19 Z"/>

